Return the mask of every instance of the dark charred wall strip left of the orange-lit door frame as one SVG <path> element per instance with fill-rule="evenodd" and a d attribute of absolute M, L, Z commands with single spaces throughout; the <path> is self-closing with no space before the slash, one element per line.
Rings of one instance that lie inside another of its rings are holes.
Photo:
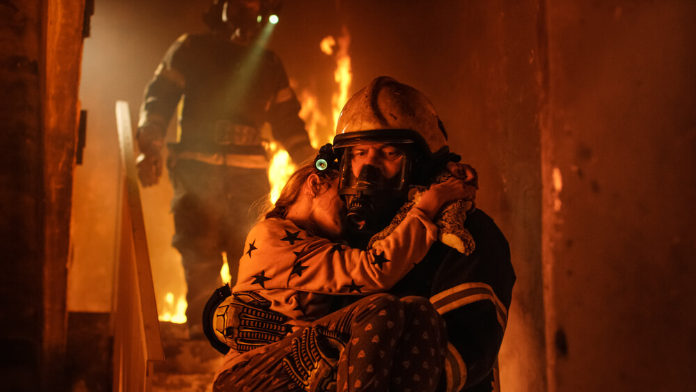
<path fill-rule="evenodd" d="M 39 389 L 42 357 L 43 157 L 40 3 L 0 13 L 0 371 L 10 389 Z"/>

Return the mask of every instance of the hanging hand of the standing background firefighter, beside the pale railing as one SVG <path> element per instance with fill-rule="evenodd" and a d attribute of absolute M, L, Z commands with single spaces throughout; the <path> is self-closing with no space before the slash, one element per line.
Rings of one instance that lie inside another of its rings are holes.
<path fill-rule="evenodd" d="M 164 146 L 164 132 L 161 127 L 148 124 L 138 130 L 138 149 L 136 158 L 138 178 L 143 187 L 157 185 L 162 175 L 161 149 Z"/>

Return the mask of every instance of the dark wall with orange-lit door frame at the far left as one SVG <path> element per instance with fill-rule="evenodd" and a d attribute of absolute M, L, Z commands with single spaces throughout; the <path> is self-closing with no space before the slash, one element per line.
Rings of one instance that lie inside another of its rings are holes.
<path fill-rule="evenodd" d="M 0 375 L 65 389 L 84 1 L 0 4 Z"/>

